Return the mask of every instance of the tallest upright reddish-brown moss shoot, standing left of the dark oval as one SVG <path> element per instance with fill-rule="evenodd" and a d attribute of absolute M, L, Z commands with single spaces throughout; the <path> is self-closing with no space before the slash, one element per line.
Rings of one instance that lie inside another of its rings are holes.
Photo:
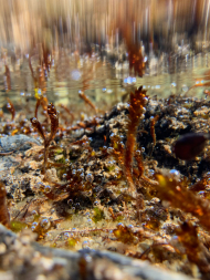
<path fill-rule="evenodd" d="M 127 142 L 124 157 L 125 175 L 132 191 L 135 185 L 133 180 L 133 156 L 136 145 L 136 132 L 139 121 L 144 118 L 145 105 L 147 104 L 146 91 L 140 86 L 135 93 L 130 93 L 129 101 L 129 120 L 127 124 Z"/>

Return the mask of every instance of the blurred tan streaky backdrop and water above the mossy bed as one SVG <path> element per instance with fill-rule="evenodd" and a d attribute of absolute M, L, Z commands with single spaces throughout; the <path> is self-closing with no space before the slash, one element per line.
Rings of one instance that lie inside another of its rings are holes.
<path fill-rule="evenodd" d="M 0 104 L 46 94 L 84 108 L 84 92 L 106 108 L 141 84 L 157 96 L 208 92 L 209 0 L 0 3 Z"/>

